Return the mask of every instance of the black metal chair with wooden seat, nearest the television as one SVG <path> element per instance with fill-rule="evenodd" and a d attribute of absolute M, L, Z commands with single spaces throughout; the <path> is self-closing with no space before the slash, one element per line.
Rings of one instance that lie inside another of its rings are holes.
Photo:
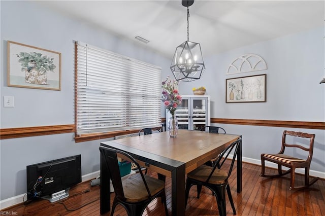
<path fill-rule="evenodd" d="M 134 163 L 141 170 L 139 163 L 131 155 L 121 150 L 101 146 L 100 152 L 110 172 L 115 192 L 111 215 L 113 215 L 117 204 L 121 204 L 128 215 L 142 215 L 146 206 L 157 197 L 161 197 L 161 201 L 165 205 L 166 215 L 168 215 L 165 182 L 151 176 L 146 175 L 145 177 L 142 172 L 133 174 L 122 182 L 117 158 L 124 158 Z M 126 194 L 128 194 L 127 197 Z"/>

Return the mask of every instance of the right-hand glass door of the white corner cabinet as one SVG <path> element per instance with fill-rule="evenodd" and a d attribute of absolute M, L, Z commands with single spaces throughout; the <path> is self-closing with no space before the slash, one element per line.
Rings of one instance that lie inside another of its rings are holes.
<path fill-rule="evenodd" d="M 207 125 L 207 98 L 191 98 L 191 125 L 192 130 L 200 130 Z"/>

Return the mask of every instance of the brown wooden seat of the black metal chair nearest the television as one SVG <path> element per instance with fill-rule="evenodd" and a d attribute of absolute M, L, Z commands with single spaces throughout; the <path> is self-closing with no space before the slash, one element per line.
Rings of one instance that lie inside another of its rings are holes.
<path fill-rule="evenodd" d="M 165 189 L 165 182 L 157 178 L 144 175 L 148 188 L 151 194 L 157 194 L 159 191 Z M 131 175 L 122 180 L 123 191 L 126 202 L 141 202 L 149 199 L 147 189 L 143 184 L 140 173 Z"/>

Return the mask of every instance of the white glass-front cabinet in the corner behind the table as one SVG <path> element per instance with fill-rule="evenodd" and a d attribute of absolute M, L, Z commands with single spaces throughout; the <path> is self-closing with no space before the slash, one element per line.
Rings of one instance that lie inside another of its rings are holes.
<path fill-rule="evenodd" d="M 177 107 L 178 129 L 200 130 L 210 125 L 210 96 L 182 95 L 182 104 Z M 166 122 L 171 114 L 166 112 Z"/>

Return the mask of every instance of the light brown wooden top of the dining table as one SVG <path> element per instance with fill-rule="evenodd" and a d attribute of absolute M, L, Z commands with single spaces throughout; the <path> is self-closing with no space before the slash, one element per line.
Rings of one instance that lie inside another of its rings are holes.
<path fill-rule="evenodd" d="M 185 163 L 186 173 L 202 165 L 238 139 L 240 135 L 218 134 L 197 130 L 178 130 L 177 137 L 168 132 L 132 136 L 111 142 L 157 156 Z M 203 160 L 203 161 L 201 161 Z"/>

